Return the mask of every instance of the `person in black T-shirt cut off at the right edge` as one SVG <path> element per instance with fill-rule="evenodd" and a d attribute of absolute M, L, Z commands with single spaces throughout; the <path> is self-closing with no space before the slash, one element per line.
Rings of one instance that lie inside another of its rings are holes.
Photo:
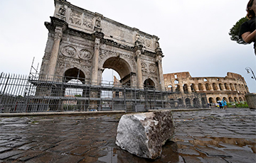
<path fill-rule="evenodd" d="M 255 55 L 256 55 L 256 47 L 255 47 L 255 13 L 256 13 L 256 0 L 250 0 L 246 7 L 247 15 L 246 17 L 249 21 L 245 21 L 240 26 L 239 36 L 242 37 L 242 40 L 245 43 L 252 43 L 254 42 L 253 47 L 255 48 Z"/>

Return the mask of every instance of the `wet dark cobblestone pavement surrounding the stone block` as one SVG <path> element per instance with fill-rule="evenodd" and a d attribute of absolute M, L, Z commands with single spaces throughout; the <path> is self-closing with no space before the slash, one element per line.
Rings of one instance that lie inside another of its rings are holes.
<path fill-rule="evenodd" d="M 256 111 L 174 112 L 176 136 L 159 159 L 114 144 L 122 114 L 0 117 L 0 162 L 256 162 Z"/>

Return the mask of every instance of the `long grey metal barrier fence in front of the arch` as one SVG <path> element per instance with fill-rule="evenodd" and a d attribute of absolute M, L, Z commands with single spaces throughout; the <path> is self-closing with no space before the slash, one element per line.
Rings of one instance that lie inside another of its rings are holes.
<path fill-rule="evenodd" d="M 1 113 L 43 111 L 148 111 L 161 108 L 205 108 L 205 94 L 179 94 L 112 81 L 73 77 L 0 75 Z"/>

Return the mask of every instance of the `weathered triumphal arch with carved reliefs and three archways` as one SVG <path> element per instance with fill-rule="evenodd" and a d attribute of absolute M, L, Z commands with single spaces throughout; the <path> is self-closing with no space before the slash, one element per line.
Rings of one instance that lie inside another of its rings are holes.
<path fill-rule="evenodd" d="M 80 77 L 100 84 L 102 72 L 114 69 L 122 84 L 145 84 L 164 91 L 159 38 L 93 13 L 68 1 L 55 0 L 46 22 L 48 41 L 41 77 Z M 82 81 L 83 82 L 83 81 Z"/>

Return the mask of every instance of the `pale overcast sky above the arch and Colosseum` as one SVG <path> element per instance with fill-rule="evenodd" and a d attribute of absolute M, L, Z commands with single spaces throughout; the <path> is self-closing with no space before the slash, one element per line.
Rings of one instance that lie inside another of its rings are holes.
<path fill-rule="evenodd" d="M 164 52 L 164 74 L 190 72 L 191 77 L 241 74 L 250 92 L 256 81 L 253 45 L 230 40 L 230 28 L 246 15 L 248 0 L 68 0 L 75 6 L 124 25 L 157 35 Z M 41 66 L 53 0 L 0 0 L 0 72 L 28 74 Z"/>

